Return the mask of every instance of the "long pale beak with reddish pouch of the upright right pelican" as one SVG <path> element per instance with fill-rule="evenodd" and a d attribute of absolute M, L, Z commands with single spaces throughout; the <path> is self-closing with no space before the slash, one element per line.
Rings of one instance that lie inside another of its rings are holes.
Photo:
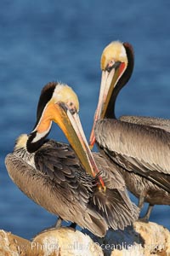
<path fill-rule="evenodd" d="M 89 139 L 89 147 L 92 149 L 95 143 L 95 135 L 94 135 L 94 128 L 96 122 L 99 119 L 105 118 L 105 113 L 108 108 L 109 102 L 111 101 L 111 95 L 116 87 L 116 84 L 123 72 L 124 63 L 120 62 L 119 67 L 111 68 L 111 71 L 103 70 L 101 76 L 101 84 L 100 84 L 100 91 L 99 91 L 99 102 L 98 107 L 96 108 L 96 112 L 94 114 L 94 125 L 91 131 L 90 139 Z"/>

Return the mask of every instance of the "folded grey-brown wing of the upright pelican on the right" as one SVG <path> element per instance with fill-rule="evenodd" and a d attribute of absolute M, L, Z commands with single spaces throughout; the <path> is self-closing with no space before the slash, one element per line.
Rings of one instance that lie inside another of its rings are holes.
<path fill-rule="evenodd" d="M 95 128 L 99 147 L 129 172 L 170 192 L 170 134 L 159 128 L 101 119 Z"/>

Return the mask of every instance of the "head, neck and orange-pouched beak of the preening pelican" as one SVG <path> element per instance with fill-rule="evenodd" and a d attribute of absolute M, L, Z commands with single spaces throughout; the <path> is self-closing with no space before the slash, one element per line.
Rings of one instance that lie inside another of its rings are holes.
<path fill-rule="evenodd" d="M 42 89 L 37 106 L 37 122 L 28 137 L 26 148 L 32 153 L 41 147 L 54 121 L 65 133 L 82 166 L 92 176 L 99 171 L 82 130 L 76 93 L 66 84 L 48 83 Z"/>

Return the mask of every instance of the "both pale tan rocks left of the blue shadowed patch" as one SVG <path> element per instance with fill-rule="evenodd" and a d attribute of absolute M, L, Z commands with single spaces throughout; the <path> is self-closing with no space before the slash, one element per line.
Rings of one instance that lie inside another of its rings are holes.
<path fill-rule="evenodd" d="M 32 241 L 0 230 L 0 255 L 5 256 L 103 256 L 92 239 L 71 228 L 51 229 L 38 234 Z"/>

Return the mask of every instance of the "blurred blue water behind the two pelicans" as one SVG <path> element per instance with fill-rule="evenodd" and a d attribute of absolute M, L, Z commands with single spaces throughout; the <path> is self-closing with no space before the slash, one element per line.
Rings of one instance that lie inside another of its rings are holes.
<path fill-rule="evenodd" d="M 99 96 L 100 55 L 112 40 L 133 44 L 133 77 L 116 102 L 116 115 L 169 118 L 170 2 L 160 0 L 1 1 L 0 229 L 31 238 L 55 216 L 24 195 L 8 177 L 4 158 L 35 123 L 42 86 L 70 84 L 80 100 L 89 137 Z M 50 137 L 66 141 L 56 125 Z M 132 197 L 133 201 L 136 201 Z M 150 221 L 170 229 L 170 209 L 156 206 Z"/>

